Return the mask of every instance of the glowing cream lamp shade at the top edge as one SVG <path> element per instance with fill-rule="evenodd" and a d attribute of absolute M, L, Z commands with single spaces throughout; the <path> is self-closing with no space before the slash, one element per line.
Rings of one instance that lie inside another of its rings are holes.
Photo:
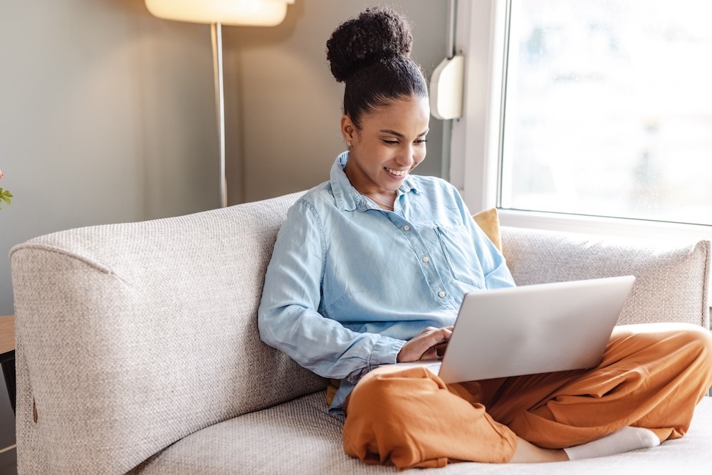
<path fill-rule="evenodd" d="M 225 25 L 276 26 L 294 0 L 146 0 L 148 11 L 162 19 Z"/>

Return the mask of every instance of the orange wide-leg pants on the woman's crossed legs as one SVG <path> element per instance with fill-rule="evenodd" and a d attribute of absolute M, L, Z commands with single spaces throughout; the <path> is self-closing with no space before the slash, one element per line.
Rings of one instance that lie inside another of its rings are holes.
<path fill-rule="evenodd" d="M 344 449 L 398 469 L 509 461 L 517 436 L 539 447 L 584 444 L 626 426 L 682 437 L 712 385 L 712 337 L 697 325 L 614 329 L 592 370 L 446 385 L 424 367 L 379 367 L 347 400 Z"/>

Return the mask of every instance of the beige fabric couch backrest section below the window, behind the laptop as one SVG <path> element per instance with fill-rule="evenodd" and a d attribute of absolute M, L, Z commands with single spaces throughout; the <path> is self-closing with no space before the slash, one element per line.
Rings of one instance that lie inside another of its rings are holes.
<path fill-rule="evenodd" d="M 518 285 L 624 276 L 637 280 L 619 324 L 681 322 L 709 328 L 710 242 L 629 239 L 503 227 Z"/>

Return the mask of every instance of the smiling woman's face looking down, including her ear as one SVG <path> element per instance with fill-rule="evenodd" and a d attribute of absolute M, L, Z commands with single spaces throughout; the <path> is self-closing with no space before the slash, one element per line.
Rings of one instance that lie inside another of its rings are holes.
<path fill-rule="evenodd" d="M 429 122 L 428 98 L 416 97 L 364 115 L 360 128 L 344 115 L 341 132 L 351 142 L 345 172 L 351 184 L 366 194 L 395 192 L 425 158 Z"/>

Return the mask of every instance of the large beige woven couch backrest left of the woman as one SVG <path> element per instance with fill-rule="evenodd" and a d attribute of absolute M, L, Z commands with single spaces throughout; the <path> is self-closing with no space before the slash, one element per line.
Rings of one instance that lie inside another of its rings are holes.
<path fill-rule="evenodd" d="M 202 427 L 325 387 L 256 326 L 297 197 L 14 247 L 21 465 L 124 473 Z"/>

